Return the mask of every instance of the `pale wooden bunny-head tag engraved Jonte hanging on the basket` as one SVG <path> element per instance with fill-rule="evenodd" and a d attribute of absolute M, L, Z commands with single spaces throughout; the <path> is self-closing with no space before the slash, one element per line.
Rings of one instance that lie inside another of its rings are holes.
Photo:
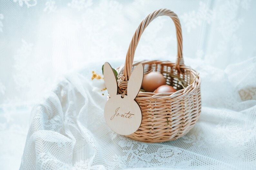
<path fill-rule="evenodd" d="M 137 131 L 142 122 L 142 112 L 139 104 L 134 100 L 138 95 L 143 80 L 143 65 L 139 64 L 131 74 L 127 95 L 117 94 L 117 81 L 108 62 L 103 68 L 104 81 L 110 99 L 104 108 L 104 117 L 108 126 L 120 135 L 130 135 Z"/>

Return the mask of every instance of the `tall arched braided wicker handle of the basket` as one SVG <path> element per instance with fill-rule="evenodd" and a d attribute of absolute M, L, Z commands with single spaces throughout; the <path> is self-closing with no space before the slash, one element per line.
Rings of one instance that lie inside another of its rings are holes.
<path fill-rule="evenodd" d="M 148 24 L 153 21 L 155 18 L 159 16 L 169 16 L 172 18 L 172 21 L 175 24 L 176 28 L 176 35 L 177 35 L 177 41 L 178 41 L 178 54 L 177 54 L 177 60 L 176 60 L 176 67 L 180 70 L 180 65 L 184 65 L 184 61 L 182 58 L 182 31 L 181 31 L 181 23 L 178 18 L 178 16 L 172 12 L 169 9 L 159 9 L 154 11 L 153 13 L 148 14 L 146 18 L 140 23 L 139 27 L 137 28 L 136 32 L 133 35 L 133 39 L 130 43 L 129 49 L 126 54 L 125 64 L 124 64 L 124 70 L 123 70 L 123 76 L 125 76 L 125 80 L 129 80 L 129 77 L 132 73 L 132 66 L 133 66 L 133 58 L 134 53 L 137 48 L 137 45 L 139 43 L 139 40 L 141 38 L 141 35 L 145 28 L 148 26 Z"/>

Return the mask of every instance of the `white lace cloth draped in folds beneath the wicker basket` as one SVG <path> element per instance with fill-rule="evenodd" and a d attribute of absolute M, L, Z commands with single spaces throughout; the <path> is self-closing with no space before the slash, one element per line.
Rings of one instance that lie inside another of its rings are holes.
<path fill-rule="evenodd" d="M 256 79 L 256 58 L 224 71 L 187 63 L 202 76 L 202 114 L 184 137 L 148 144 L 114 133 L 103 118 L 106 95 L 92 91 L 94 64 L 34 107 L 20 169 L 255 169 L 256 100 L 244 94 L 256 90 L 244 82 Z"/>

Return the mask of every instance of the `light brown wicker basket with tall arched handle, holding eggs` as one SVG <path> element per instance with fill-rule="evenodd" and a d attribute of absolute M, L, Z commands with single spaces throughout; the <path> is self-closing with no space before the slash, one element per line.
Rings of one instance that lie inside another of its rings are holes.
<path fill-rule="evenodd" d="M 178 40 L 176 63 L 159 60 L 133 63 L 135 49 L 143 31 L 151 21 L 163 15 L 171 17 L 176 27 Z M 168 9 L 159 9 L 149 14 L 140 23 L 127 51 L 125 64 L 117 68 L 119 94 L 126 92 L 132 69 L 139 63 L 144 65 L 144 73 L 150 70 L 161 73 L 166 78 L 166 84 L 173 86 L 177 92 L 156 94 L 140 91 L 135 101 L 142 110 L 142 123 L 136 132 L 127 137 L 154 143 L 175 140 L 184 136 L 195 125 L 201 113 L 201 78 L 195 70 L 184 65 L 181 24 L 175 13 Z M 183 88 L 177 77 L 173 75 L 182 78 L 187 87 Z"/>

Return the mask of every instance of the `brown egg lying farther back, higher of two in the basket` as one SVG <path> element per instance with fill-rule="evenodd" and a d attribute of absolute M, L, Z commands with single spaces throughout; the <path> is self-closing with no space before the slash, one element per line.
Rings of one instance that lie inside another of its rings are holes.
<path fill-rule="evenodd" d="M 143 77 L 142 88 L 146 92 L 153 92 L 161 85 L 165 85 L 166 80 L 161 73 L 151 72 Z"/>

